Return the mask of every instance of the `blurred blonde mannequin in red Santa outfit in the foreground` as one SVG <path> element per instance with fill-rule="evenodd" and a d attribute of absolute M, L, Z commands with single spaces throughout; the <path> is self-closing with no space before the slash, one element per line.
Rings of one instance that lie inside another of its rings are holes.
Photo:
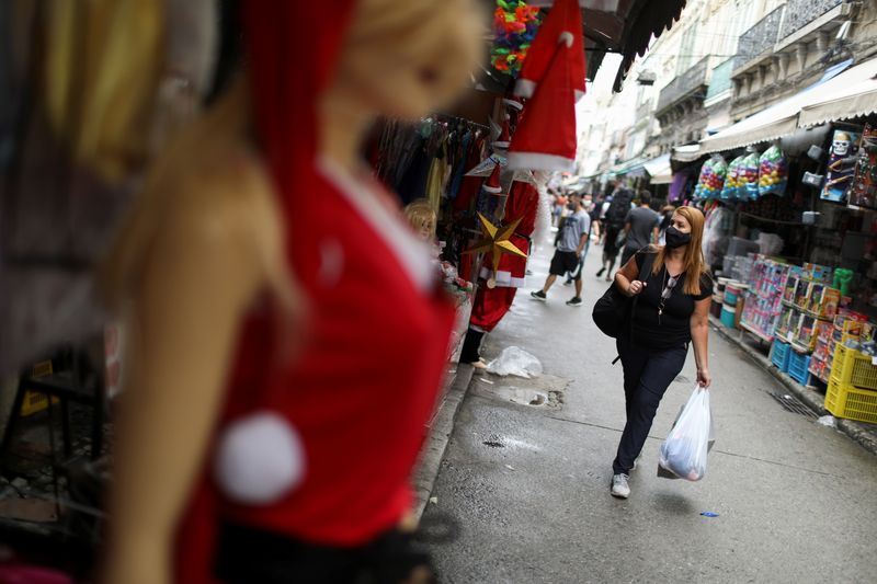
<path fill-rule="evenodd" d="M 474 4 L 243 7 L 248 78 L 166 151 L 106 264 L 133 370 L 105 582 L 344 582 L 405 523 L 453 307 L 358 151 L 378 115 L 415 119 L 465 87 Z M 410 367 L 368 358 L 381 325 Z M 223 573 L 263 568 L 219 542 L 240 533 L 307 565 Z"/>

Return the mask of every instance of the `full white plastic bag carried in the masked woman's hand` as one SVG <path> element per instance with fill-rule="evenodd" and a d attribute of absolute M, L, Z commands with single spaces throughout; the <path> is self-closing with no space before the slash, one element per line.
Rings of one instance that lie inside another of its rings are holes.
<path fill-rule="evenodd" d="M 699 481 L 706 474 L 706 458 L 711 446 L 713 414 L 709 391 L 697 386 L 682 409 L 670 435 L 661 445 L 658 476 Z"/>

